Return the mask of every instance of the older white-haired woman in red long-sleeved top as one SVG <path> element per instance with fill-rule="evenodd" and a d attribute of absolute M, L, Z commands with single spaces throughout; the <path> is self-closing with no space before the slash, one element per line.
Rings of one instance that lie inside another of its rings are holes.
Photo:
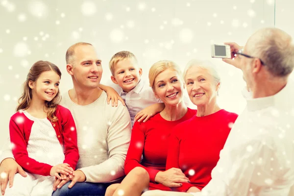
<path fill-rule="evenodd" d="M 208 63 L 192 60 L 184 79 L 191 101 L 197 106 L 196 116 L 176 125 L 169 142 L 166 169 L 179 168 L 190 182 L 172 188 L 178 192 L 200 192 L 211 179 L 231 127 L 238 115 L 221 109 L 217 95 L 221 81 Z M 144 196 L 189 196 L 172 192 L 146 192 Z"/>

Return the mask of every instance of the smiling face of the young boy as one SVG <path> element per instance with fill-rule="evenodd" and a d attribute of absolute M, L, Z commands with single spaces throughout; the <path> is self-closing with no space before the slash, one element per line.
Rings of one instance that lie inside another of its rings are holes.
<path fill-rule="evenodd" d="M 137 86 L 141 75 L 142 69 L 138 68 L 136 60 L 125 58 L 114 66 L 114 75 L 111 76 L 111 80 L 128 93 Z"/>

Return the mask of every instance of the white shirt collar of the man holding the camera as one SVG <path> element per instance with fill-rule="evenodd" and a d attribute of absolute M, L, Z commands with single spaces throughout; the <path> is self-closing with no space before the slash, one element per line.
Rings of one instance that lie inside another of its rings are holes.
<path fill-rule="evenodd" d="M 294 84 L 293 81 L 288 80 L 286 86 L 273 96 L 264 98 L 248 98 L 247 108 L 249 111 L 255 111 L 264 109 L 270 106 L 283 107 L 289 104 L 287 98 L 292 98 L 294 96 Z"/>

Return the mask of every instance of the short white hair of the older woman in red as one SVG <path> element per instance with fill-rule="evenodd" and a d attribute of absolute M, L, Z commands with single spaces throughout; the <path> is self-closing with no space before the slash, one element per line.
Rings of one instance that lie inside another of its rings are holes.
<path fill-rule="evenodd" d="M 201 61 L 201 60 L 197 60 L 197 59 L 190 60 L 188 62 L 188 64 L 186 65 L 186 68 L 183 73 L 184 80 L 186 78 L 187 72 L 192 67 L 197 67 L 197 68 L 208 70 L 209 73 L 214 77 L 215 84 L 217 85 L 218 83 L 221 83 L 221 77 L 220 77 L 219 73 L 217 72 L 215 65 L 212 64 L 210 61 Z M 218 92 L 218 95 L 219 95 L 219 92 Z"/>

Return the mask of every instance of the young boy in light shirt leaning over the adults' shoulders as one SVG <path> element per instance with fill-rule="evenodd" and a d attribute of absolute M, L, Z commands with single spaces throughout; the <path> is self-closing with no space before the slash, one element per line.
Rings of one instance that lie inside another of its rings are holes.
<path fill-rule="evenodd" d="M 155 95 L 148 82 L 141 78 L 142 69 L 138 66 L 136 56 L 129 51 L 120 51 L 114 54 L 109 62 L 111 85 L 123 98 L 130 113 L 132 125 L 139 121 L 146 122 L 150 117 L 164 109 L 164 103 Z M 101 86 L 99 86 L 101 88 Z M 101 88 L 103 90 L 103 88 Z M 184 96 L 188 106 L 190 100 Z"/>

